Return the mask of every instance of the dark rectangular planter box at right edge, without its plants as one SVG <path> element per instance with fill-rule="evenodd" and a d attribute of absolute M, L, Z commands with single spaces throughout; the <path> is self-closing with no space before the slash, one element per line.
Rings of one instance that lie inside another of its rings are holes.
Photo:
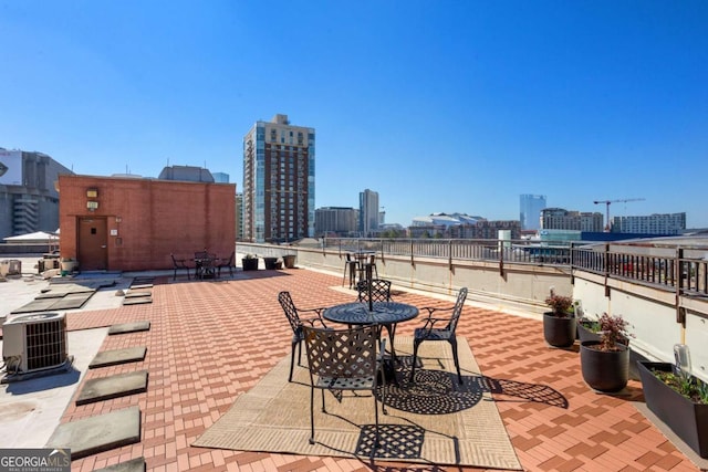
<path fill-rule="evenodd" d="M 637 361 L 646 406 L 690 449 L 708 459 L 708 405 L 694 403 L 652 373 L 671 371 L 673 367 L 668 363 Z"/>

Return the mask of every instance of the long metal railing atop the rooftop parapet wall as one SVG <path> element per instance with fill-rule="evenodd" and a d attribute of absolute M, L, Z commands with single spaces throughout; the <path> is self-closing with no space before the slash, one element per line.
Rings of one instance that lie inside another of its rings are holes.
<path fill-rule="evenodd" d="M 340 253 L 375 251 L 387 255 L 452 261 L 552 265 L 622 279 L 679 295 L 708 296 L 708 245 L 666 242 L 569 242 L 460 239 L 326 238 L 322 248 Z"/>

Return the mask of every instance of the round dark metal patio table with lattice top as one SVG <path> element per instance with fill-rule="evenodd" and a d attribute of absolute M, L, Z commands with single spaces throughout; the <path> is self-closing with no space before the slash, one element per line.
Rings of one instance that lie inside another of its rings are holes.
<path fill-rule="evenodd" d="M 396 325 L 407 322 L 418 316 L 418 308 L 398 302 L 374 302 L 372 311 L 368 303 L 354 302 L 342 305 L 334 305 L 322 312 L 322 317 L 329 322 L 344 323 L 347 325 L 379 325 L 388 332 L 391 339 L 391 357 L 396 360 L 394 340 L 396 336 Z"/>

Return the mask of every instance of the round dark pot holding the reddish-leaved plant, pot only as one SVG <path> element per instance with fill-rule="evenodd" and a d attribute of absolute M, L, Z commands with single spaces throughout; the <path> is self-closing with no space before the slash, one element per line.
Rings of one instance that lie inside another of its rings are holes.
<path fill-rule="evenodd" d="M 620 350 L 597 350 L 598 340 L 580 344 L 580 365 L 583 380 L 598 391 L 620 391 L 629 380 L 629 348 L 616 344 Z"/>

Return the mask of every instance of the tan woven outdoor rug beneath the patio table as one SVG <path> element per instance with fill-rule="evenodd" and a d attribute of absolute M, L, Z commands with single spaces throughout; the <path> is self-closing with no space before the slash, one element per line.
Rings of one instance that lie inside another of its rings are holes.
<path fill-rule="evenodd" d="M 396 338 L 399 385 L 387 386 L 388 415 L 379 410 L 377 449 L 374 401 L 361 391 L 325 391 L 326 413 L 315 391 L 316 442 L 310 444 L 310 376 L 304 367 L 295 366 L 289 382 L 290 356 L 238 397 L 192 445 L 521 470 L 469 345 L 458 339 L 462 386 L 449 345 L 435 342 L 420 345 L 421 366 L 416 367 L 415 382 L 409 382 L 413 338 Z"/>

